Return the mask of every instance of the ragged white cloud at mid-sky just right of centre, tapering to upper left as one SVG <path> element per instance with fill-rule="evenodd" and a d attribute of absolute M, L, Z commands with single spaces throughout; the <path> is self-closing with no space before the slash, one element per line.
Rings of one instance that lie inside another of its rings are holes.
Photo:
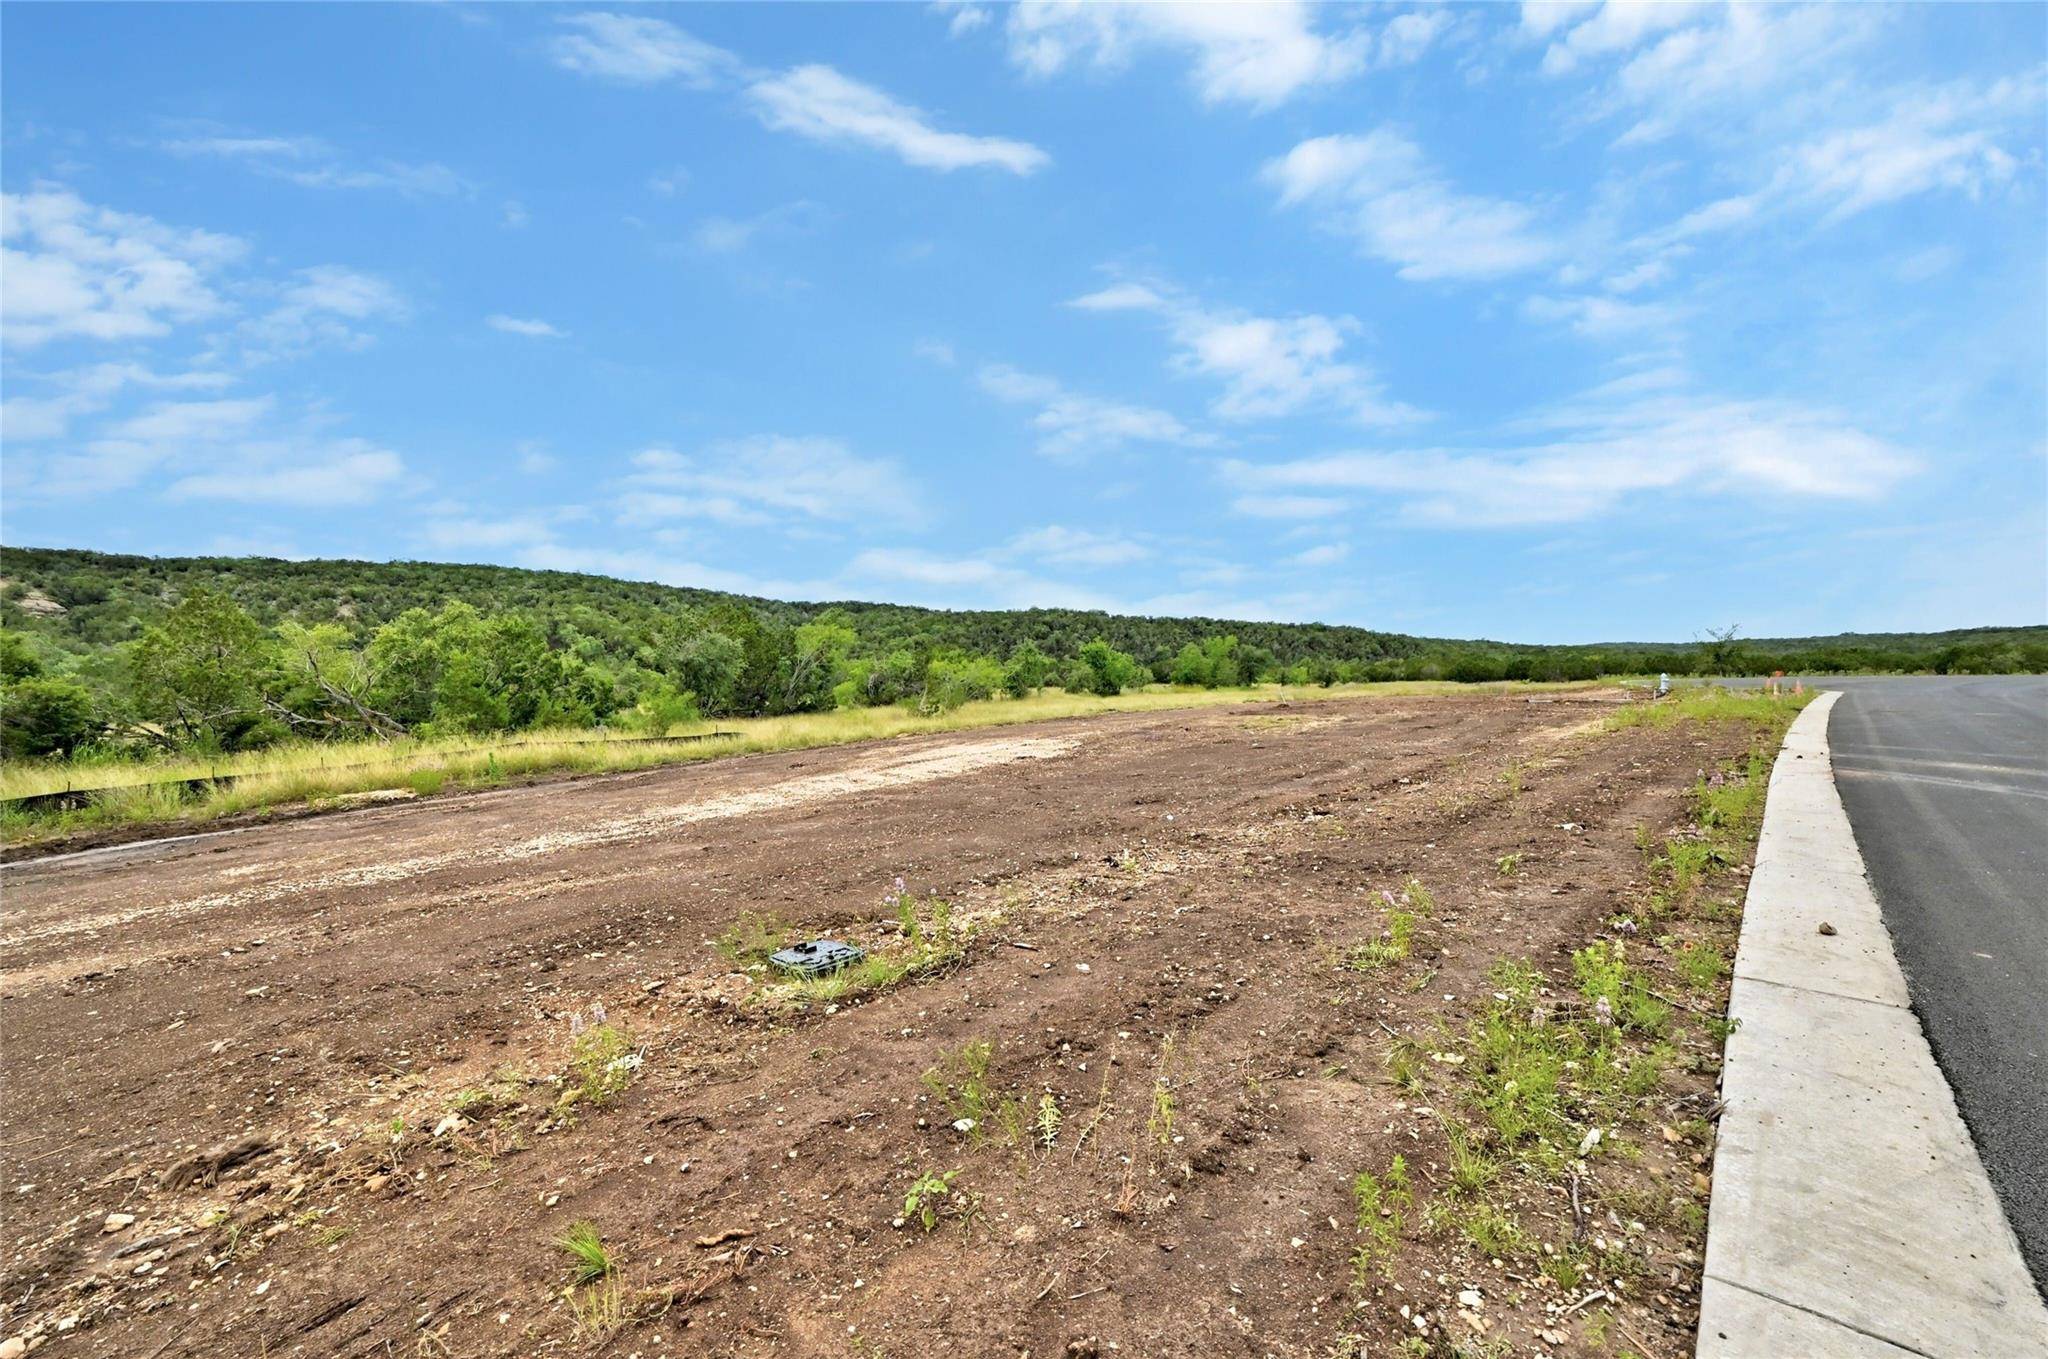
<path fill-rule="evenodd" d="M 1262 317 L 1212 309 L 1159 282 L 1120 282 L 1071 305 L 1161 317 L 1180 346 L 1174 364 L 1223 383 L 1212 409 L 1225 420 L 1270 420 L 1309 409 L 1335 411 L 1368 426 L 1421 418 L 1415 407 L 1391 401 L 1368 368 L 1339 358 L 1348 338 L 1360 332 L 1358 321 L 1346 315 Z"/>

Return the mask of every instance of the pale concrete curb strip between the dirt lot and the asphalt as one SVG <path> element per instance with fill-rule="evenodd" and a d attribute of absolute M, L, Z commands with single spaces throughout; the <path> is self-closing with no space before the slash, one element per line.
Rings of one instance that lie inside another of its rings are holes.
<path fill-rule="evenodd" d="M 1743 909 L 1702 1359 L 2048 1357 L 2034 1291 L 1835 792 L 1817 698 L 1772 768 Z M 1821 933 L 1821 923 L 1835 933 Z"/>

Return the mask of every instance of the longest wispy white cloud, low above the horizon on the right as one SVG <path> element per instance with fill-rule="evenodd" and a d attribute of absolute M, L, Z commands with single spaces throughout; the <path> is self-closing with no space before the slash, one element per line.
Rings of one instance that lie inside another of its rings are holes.
<path fill-rule="evenodd" d="M 1563 524 L 1638 495 L 1876 499 L 1917 458 L 1841 418 L 1790 403 L 1653 395 L 1552 411 L 1546 438 L 1495 448 L 1335 452 L 1223 465 L 1255 495 L 1370 493 L 1405 518 L 1489 528 Z"/>

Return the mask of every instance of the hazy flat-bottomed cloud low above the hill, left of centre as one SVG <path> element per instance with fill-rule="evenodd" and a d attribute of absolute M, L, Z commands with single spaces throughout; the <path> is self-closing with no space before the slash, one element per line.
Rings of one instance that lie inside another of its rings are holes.
<path fill-rule="evenodd" d="M 733 522 L 780 518 L 881 520 L 922 518 L 922 497 L 889 458 L 862 458 L 836 438 L 756 438 L 711 444 L 686 454 L 647 448 L 633 454 L 629 506 L 647 520 L 709 516 Z M 668 493 L 670 499 L 655 499 Z"/>

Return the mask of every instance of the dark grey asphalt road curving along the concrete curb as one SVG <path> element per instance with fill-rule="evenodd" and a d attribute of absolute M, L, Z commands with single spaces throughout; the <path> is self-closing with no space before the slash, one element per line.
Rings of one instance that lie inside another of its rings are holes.
<path fill-rule="evenodd" d="M 1821 677 L 1935 1060 L 2048 1294 L 2048 675 Z"/>

